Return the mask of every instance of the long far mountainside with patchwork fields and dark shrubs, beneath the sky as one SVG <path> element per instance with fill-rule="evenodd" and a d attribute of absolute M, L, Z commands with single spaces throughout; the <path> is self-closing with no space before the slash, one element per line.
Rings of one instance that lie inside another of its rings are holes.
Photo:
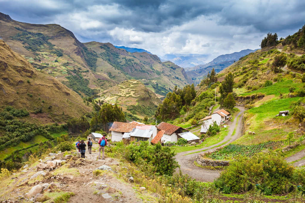
<path fill-rule="evenodd" d="M 152 91 L 163 96 L 169 88 L 191 82 L 184 69 L 170 69 L 156 55 L 130 53 L 110 43 L 83 44 L 71 31 L 56 24 L 21 23 L 0 13 L 0 26 L 0 36 L 13 51 L 82 96 L 129 79 L 143 79 Z"/>

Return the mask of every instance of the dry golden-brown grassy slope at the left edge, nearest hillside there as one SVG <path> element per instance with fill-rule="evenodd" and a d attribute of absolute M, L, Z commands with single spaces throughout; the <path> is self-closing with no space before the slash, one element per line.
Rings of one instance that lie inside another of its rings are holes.
<path fill-rule="evenodd" d="M 63 121 L 92 111 L 78 94 L 45 71 L 35 69 L 2 40 L 0 69 L 1 106 L 26 109 L 33 120 L 42 123 Z"/>

